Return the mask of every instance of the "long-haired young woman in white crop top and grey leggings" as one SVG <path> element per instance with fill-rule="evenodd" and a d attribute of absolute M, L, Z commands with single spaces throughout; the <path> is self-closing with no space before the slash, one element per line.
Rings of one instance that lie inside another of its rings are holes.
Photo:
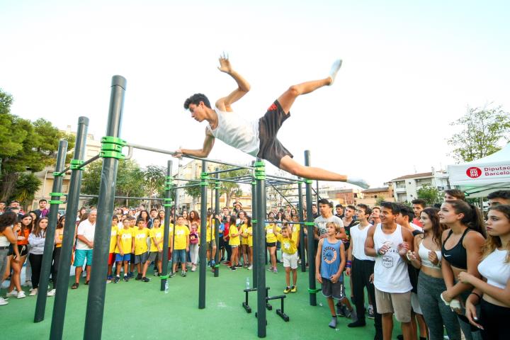
<path fill-rule="evenodd" d="M 408 259 L 414 268 L 419 269 L 418 300 L 425 322 L 429 327 L 431 340 L 443 339 L 443 325 L 450 340 L 460 340 L 460 327 L 457 316 L 441 300 L 446 285 L 441 272 L 441 234 L 444 226 L 439 222 L 438 209 L 421 210 L 420 218 L 423 234 L 414 237 L 414 251 Z"/>

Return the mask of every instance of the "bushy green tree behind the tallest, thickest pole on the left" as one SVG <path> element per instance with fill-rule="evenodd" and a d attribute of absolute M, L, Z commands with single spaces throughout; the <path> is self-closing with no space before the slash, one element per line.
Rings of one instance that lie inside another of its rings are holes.
<path fill-rule="evenodd" d="M 81 180 L 81 192 L 89 195 L 99 194 L 101 183 L 101 169 L 103 161 L 93 162 L 87 166 Z M 132 159 L 120 161 L 117 171 L 117 183 L 115 185 L 115 196 L 140 197 L 145 195 L 144 174 L 140 166 Z M 138 204 L 140 200 L 124 199 L 125 205 L 130 203 Z M 92 205 L 97 204 L 97 198 L 89 200 Z"/>

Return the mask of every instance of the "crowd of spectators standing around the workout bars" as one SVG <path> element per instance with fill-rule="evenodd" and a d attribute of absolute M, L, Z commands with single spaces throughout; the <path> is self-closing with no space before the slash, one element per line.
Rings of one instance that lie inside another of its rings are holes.
<path fill-rule="evenodd" d="M 297 266 L 307 261 L 308 237 L 312 237 L 315 276 L 331 312 L 329 327 L 337 327 L 339 316 L 351 317 L 348 327 L 365 327 L 368 317 L 375 319 L 374 339 L 389 340 L 395 317 L 401 324 L 400 337 L 406 340 L 443 339 L 445 330 L 450 340 L 508 339 L 504 320 L 510 317 L 510 191 L 488 196 L 486 216 L 467 203 L 461 191 L 448 190 L 444 198 L 435 207 L 419 199 L 413 200 L 412 206 L 382 202 L 374 207 L 334 207 L 322 199 L 312 205 L 312 235 L 307 228 L 301 232 L 296 208 L 288 205 L 271 210 L 264 228 L 267 270 L 278 273 L 278 263 L 283 263 L 283 292 L 297 292 Z M 0 202 L 0 285 L 10 279 L 0 305 L 8 304 L 8 297 L 26 297 L 21 283 L 23 268 L 26 283 L 31 285 L 28 295 L 39 293 L 48 224 L 46 205 L 40 200 L 40 209 L 25 214 L 16 201 L 8 207 Z M 72 289 L 79 288 L 83 268 L 84 284 L 89 283 L 96 214 L 94 207 L 81 208 L 76 223 L 70 224 L 75 227 Z M 305 210 L 303 214 L 306 219 Z M 149 282 L 149 266 L 154 276 L 162 275 L 164 217 L 164 210 L 155 208 L 115 209 L 107 283 L 132 278 Z M 251 270 L 253 226 L 242 205 L 234 203 L 232 211 L 208 210 L 203 217 L 205 232 L 200 229 L 200 218 L 195 210 L 175 214 L 172 209 L 169 276 L 180 271 L 186 277 L 188 271 L 196 271 L 201 237 L 205 237 L 208 266 L 217 265 L 215 226 L 220 263 L 232 271 Z M 52 254 L 53 286 L 44 292 L 49 296 L 57 289 L 64 226 L 65 216 L 61 216 Z M 350 298 L 346 296 L 347 282 Z"/>

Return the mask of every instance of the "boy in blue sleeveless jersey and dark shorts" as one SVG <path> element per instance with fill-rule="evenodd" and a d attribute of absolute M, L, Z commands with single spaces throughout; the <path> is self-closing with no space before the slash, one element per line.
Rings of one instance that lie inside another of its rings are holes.
<path fill-rule="evenodd" d="M 322 284 L 322 294 L 327 297 L 331 322 L 329 327 L 336 328 L 336 312 L 334 300 L 342 300 L 344 293 L 344 267 L 346 264 L 344 242 L 336 239 L 340 226 L 335 222 L 327 222 L 327 237 L 319 239 L 317 256 L 315 256 L 315 277 Z"/>

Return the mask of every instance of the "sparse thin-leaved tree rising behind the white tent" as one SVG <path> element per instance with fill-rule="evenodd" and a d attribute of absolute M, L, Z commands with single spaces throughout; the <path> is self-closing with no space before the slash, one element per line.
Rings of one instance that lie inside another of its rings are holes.
<path fill-rule="evenodd" d="M 451 154 L 457 162 L 471 162 L 497 152 L 504 140 L 510 140 L 510 116 L 496 108 L 467 108 L 462 118 L 450 125 L 461 125 L 464 130 L 455 133 L 448 145 L 454 147 Z"/>

